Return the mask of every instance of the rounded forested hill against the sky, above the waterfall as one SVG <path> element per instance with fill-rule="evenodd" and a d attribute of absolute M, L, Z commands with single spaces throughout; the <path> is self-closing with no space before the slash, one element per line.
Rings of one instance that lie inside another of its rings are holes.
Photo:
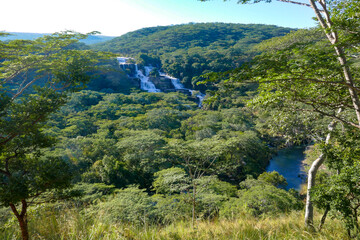
<path fill-rule="evenodd" d="M 161 68 L 193 89 L 198 76 L 239 67 L 255 44 L 292 29 L 260 24 L 196 23 L 144 28 L 93 48 L 135 57 L 137 63 Z"/>

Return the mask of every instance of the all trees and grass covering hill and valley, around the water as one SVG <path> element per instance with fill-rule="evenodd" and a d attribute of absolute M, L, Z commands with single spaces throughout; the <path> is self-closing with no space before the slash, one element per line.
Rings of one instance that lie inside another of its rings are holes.
<path fill-rule="evenodd" d="M 357 238 L 359 6 L 327 6 L 296 31 L 203 23 L 92 46 L 74 32 L 1 41 L 1 238 Z M 202 107 L 142 91 L 120 55 L 206 92 Z M 310 146 L 300 192 L 266 172 L 291 145 Z"/>

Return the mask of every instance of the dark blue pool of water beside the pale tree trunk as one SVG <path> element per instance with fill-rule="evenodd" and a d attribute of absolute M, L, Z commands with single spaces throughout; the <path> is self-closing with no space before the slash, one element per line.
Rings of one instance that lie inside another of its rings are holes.
<path fill-rule="evenodd" d="M 305 158 L 304 147 L 290 147 L 282 149 L 270 160 L 267 172 L 277 171 L 283 175 L 288 182 L 287 189 L 300 190 L 306 173 L 302 165 Z"/>

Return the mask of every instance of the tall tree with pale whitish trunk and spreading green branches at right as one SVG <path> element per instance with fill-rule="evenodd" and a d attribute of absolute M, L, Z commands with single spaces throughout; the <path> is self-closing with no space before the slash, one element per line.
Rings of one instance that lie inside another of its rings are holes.
<path fill-rule="evenodd" d="M 262 0 L 239 1 L 258 2 Z M 330 143 L 330 133 L 336 122 L 360 129 L 359 76 L 353 64 L 358 56 L 360 5 L 358 1 L 353 0 L 283 2 L 312 8 L 326 41 L 319 44 L 312 42 L 309 45 L 303 44 L 304 41 L 298 44 L 296 42 L 299 41 L 293 39 L 295 41 L 288 42 L 290 44 L 285 49 L 275 51 L 277 54 L 268 55 L 269 58 L 263 58 L 257 62 L 258 64 L 254 64 L 256 67 L 263 66 L 260 67 L 261 73 L 257 72 L 255 75 L 257 80 L 261 81 L 261 91 L 267 96 L 264 102 L 276 102 L 275 105 L 278 107 L 287 106 L 292 111 L 315 111 L 332 118 L 334 121 L 329 125 L 329 134 L 326 138 L 326 143 Z M 307 40 L 308 38 L 305 42 Z M 242 77 L 254 79 L 255 76 L 251 75 L 243 72 Z M 303 104 L 306 107 L 303 107 Z M 324 160 L 325 155 L 321 154 L 313 162 L 308 174 L 305 224 L 310 228 L 313 228 L 310 193 L 315 184 L 316 172 Z"/>

